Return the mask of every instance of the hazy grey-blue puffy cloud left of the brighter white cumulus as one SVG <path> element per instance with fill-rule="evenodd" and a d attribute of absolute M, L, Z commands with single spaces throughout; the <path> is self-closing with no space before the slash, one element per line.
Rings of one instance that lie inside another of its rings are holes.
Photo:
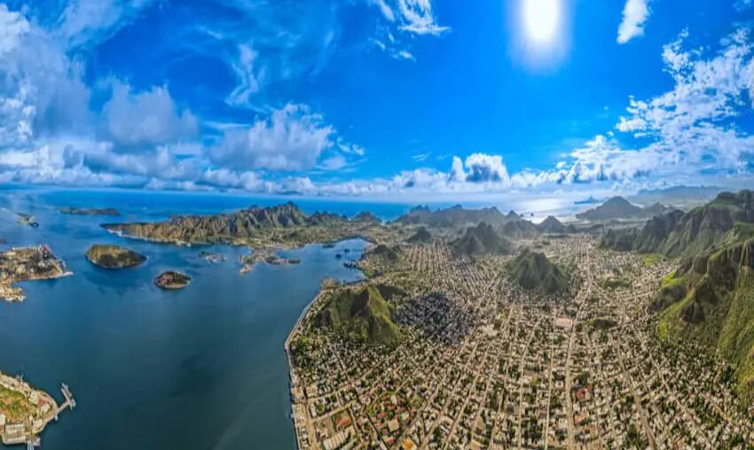
<path fill-rule="evenodd" d="M 113 97 L 103 108 L 106 137 L 119 147 L 145 147 L 190 138 L 198 120 L 179 110 L 166 87 L 134 94 L 130 86 L 113 83 Z"/>

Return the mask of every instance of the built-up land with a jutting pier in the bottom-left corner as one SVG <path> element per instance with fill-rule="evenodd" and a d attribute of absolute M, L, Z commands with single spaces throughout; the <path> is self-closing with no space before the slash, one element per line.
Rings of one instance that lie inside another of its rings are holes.
<path fill-rule="evenodd" d="M 76 406 L 66 384 L 62 384 L 61 392 L 65 400 L 58 405 L 50 394 L 34 389 L 20 376 L 0 372 L 0 441 L 5 446 L 39 446 L 39 435 L 47 424 Z"/>

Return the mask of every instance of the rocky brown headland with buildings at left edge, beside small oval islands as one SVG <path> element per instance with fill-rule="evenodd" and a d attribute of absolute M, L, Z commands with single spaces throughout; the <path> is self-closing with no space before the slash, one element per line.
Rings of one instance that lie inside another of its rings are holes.
<path fill-rule="evenodd" d="M 12 248 L 0 252 L 0 299 L 22 301 L 23 290 L 13 284 L 31 280 L 49 280 L 72 275 L 66 262 L 59 260 L 48 245 Z"/>

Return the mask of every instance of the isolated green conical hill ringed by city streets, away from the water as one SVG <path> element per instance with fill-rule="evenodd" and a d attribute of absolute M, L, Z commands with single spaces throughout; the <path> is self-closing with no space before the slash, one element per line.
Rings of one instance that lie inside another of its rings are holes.
<path fill-rule="evenodd" d="M 547 259 L 544 253 L 524 249 L 507 265 L 514 280 L 528 290 L 557 294 L 567 291 L 570 275 Z"/>

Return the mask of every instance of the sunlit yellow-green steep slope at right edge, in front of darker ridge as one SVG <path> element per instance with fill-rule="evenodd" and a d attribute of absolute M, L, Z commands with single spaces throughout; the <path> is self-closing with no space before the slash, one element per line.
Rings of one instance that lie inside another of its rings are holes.
<path fill-rule="evenodd" d="M 739 393 L 754 399 L 754 226 L 737 224 L 719 250 L 687 259 L 652 302 L 657 331 L 693 340 L 735 368 Z"/>

